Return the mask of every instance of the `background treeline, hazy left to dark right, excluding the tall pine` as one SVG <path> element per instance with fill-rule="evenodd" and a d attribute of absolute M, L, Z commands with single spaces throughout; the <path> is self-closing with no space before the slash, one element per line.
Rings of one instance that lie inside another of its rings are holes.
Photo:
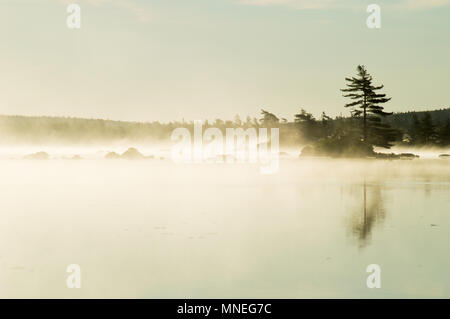
<path fill-rule="evenodd" d="M 450 145 L 450 108 L 428 112 L 395 113 L 385 118 L 397 130 L 395 143 L 404 145 Z M 192 121 L 170 123 L 139 123 L 100 119 L 64 117 L 0 116 L 0 142 L 22 143 L 89 143 L 130 141 L 167 141 L 177 127 L 193 129 Z M 357 135 L 361 127 L 358 118 L 330 117 L 324 112 L 316 118 L 305 109 L 294 115 L 294 121 L 261 110 L 260 118 L 238 115 L 233 120 L 204 121 L 204 128 L 278 127 L 280 144 L 296 147 L 331 136 Z"/>

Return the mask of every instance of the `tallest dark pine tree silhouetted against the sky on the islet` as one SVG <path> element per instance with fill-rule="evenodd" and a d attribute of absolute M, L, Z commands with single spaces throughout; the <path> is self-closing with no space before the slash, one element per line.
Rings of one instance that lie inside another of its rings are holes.
<path fill-rule="evenodd" d="M 354 100 L 345 107 L 352 108 L 354 117 L 362 117 L 362 135 L 365 143 L 389 148 L 395 141 L 398 132 L 383 123 L 382 118 L 392 113 L 384 112 L 381 104 L 389 102 L 391 98 L 387 98 L 386 94 L 377 93 L 384 86 L 374 86 L 372 76 L 363 65 L 358 65 L 357 72 L 356 77 L 345 78 L 348 82 L 347 88 L 341 89 L 342 92 L 348 93 L 344 94 L 344 97 Z"/>

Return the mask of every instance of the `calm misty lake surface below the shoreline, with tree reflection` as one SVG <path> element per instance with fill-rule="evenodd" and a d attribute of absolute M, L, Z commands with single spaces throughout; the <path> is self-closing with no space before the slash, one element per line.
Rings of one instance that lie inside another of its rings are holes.
<path fill-rule="evenodd" d="M 0 297 L 450 298 L 449 164 L 1 160 Z"/>

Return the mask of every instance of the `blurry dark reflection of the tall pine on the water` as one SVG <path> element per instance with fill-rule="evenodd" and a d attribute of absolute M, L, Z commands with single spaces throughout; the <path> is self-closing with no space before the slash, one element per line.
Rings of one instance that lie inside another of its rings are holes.
<path fill-rule="evenodd" d="M 353 189 L 352 193 L 357 205 L 351 212 L 349 232 L 359 247 L 364 248 L 371 243 L 374 227 L 382 225 L 386 218 L 381 186 L 378 183 L 368 184 L 364 180 L 362 187 Z"/>

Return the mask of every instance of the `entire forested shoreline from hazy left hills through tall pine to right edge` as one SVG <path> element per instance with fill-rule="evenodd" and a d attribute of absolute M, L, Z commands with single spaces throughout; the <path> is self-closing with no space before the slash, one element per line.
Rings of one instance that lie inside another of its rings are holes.
<path fill-rule="evenodd" d="M 432 111 L 393 113 L 384 104 L 391 98 L 380 91 L 383 85 L 363 65 L 357 74 L 346 77 L 341 89 L 347 103 L 347 115 L 334 118 L 322 112 L 313 116 L 307 107 L 299 107 L 294 120 L 288 121 L 277 112 L 261 109 L 260 118 L 247 116 L 233 120 L 203 121 L 203 128 L 215 127 L 225 133 L 227 128 L 279 128 L 281 147 L 308 145 L 304 154 L 331 156 L 372 156 L 374 149 L 392 146 L 449 147 L 450 108 Z M 343 110 L 344 110 L 343 109 Z M 71 117 L 0 116 L 0 143 L 107 143 L 166 142 L 176 128 L 193 131 L 193 121 L 124 122 Z"/>

